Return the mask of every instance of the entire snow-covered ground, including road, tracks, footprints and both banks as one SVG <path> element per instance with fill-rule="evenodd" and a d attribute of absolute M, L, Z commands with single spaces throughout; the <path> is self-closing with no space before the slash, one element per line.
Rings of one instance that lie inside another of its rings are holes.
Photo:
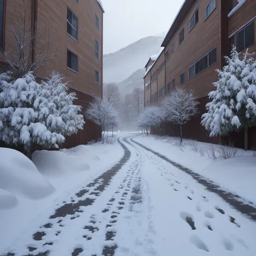
<path fill-rule="evenodd" d="M 255 152 L 115 136 L 32 161 L 0 148 L 1 256 L 255 256 Z"/>

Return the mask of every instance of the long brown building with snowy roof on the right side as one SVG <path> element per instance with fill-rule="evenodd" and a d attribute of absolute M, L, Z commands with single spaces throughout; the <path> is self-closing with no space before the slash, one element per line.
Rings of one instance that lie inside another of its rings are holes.
<path fill-rule="evenodd" d="M 217 81 L 216 69 L 221 69 L 225 58 L 236 45 L 239 51 L 248 48 L 256 52 L 255 38 L 256 1 L 255 0 L 186 0 L 181 6 L 170 30 L 161 45 L 164 50 L 158 58 L 146 68 L 144 77 L 145 106 L 151 105 L 152 97 L 157 97 L 160 104 L 163 93 L 171 93 L 178 85 L 188 91 L 193 90 L 199 101 L 199 114 L 184 126 L 187 138 L 203 142 L 218 143 L 218 137 L 211 138 L 201 126 L 201 114 L 205 113 L 208 93 L 214 90 Z M 164 61 L 164 62 L 163 62 Z M 163 68 L 162 63 L 165 67 Z M 161 73 L 155 77 L 156 71 L 164 69 L 164 82 Z M 157 86 L 153 82 L 160 80 Z M 146 85 L 151 85 L 150 90 Z M 165 89 L 162 89 L 165 85 Z M 152 87 L 156 89 L 152 90 Z M 165 92 L 164 92 L 165 90 Z M 164 124 L 164 134 L 178 136 L 178 127 Z M 256 129 L 249 131 L 249 144 L 256 146 Z M 236 146 L 243 145 L 241 133 L 230 134 Z"/>

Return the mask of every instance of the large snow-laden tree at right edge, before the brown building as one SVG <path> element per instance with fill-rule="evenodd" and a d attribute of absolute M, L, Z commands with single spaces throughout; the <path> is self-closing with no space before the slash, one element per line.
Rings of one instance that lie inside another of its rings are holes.
<path fill-rule="evenodd" d="M 245 150 L 248 149 L 248 127 L 256 124 L 256 61 L 246 51 L 242 56 L 233 48 L 231 57 L 214 83 L 215 91 L 209 93 L 212 100 L 206 105 L 203 126 L 210 136 L 227 135 L 244 128 Z"/>

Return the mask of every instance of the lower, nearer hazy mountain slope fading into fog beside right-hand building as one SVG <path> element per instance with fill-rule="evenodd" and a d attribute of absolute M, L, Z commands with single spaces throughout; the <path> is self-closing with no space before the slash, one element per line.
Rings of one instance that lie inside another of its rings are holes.
<path fill-rule="evenodd" d="M 120 92 L 124 95 L 126 93 L 131 93 L 134 88 L 143 88 L 144 81 L 143 76 L 145 74 L 145 69 L 139 69 L 132 73 L 132 75 L 121 83 L 118 84 Z"/>

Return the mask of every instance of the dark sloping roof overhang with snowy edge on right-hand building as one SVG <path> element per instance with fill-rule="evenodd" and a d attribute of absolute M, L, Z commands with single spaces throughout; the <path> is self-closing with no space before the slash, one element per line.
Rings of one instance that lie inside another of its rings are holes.
<path fill-rule="evenodd" d="M 170 42 L 170 40 L 174 36 L 174 33 L 177 31 L 180 24 L 184 21 L 184 18 L 186 17 L 188 12 L 190 11 L 194 2 L 196 2 L 196 0 L 184 0 L 183 4 L 181 5 L 181 7 L 178 11 L 178 14 L 174 18 L 174 21 L 171 25 L 171 28 L 167 32 L 167 35 L 166 35 L 163 43 L 161 44 L 162 47 L 166 47 L 167 44 Z"/>

